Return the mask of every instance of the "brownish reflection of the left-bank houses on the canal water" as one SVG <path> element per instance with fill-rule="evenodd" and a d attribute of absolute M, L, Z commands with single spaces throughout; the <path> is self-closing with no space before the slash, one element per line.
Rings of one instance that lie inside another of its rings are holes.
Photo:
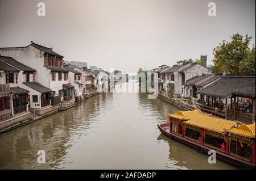
<path fill-rule="evenodd" d="M 61 168 L 73 140 L 87 134 L 98 110 L 107 107 L 112 95 L 101 93 L 64 112 L 1 135 L 0 169 Z M 5 144 L 5 142 L 13 144 Z M 38 150 L 46 151 L 46 164 L 37 162 Z M 1 164 L 2 163 L 2 164 Z M 5 167 L 4 167 L 5 166 Z"/>

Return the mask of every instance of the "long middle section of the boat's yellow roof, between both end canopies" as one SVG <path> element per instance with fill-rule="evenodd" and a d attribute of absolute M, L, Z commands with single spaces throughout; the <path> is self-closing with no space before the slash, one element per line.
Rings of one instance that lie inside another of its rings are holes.
<path fill-rule="evenodd" d="M 225 129 L 232 128 L 235 123 L 237 122 L 206 115 L 196 115 L 190 120 L 184 121 L 184 124 L 193 125 L 218 133 L 224 133 Z"/>

